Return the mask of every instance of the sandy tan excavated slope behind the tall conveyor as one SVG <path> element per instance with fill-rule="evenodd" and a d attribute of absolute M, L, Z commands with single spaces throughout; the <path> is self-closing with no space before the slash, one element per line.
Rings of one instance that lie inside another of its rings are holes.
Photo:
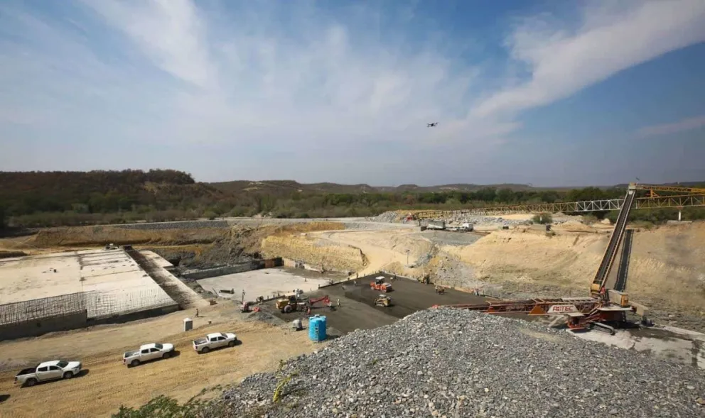
<path fill-rule="evenodd" d="M 322 240 L 360 248 L 369 262 L 361 274 L 384 268 L 412 276 L 431 273 L 458 287 L 475 287 L 481 281 L 501 285 L 507 292 L 586 295 L 611 228 L 571 220 L 554 226 L 554 231 L 549 236 L 539 227 L 495 229 L 471 245 L 434 240 L 435 247 L 410 229 L 316 234 Z M 657 310 L 660 318 L 672 314 L 682 324 L 705 322 L 704 243 L 705 223 L 637 229 L 627 289 L 632 299 Z M 407 250 L 411 263 L 429 253 L 434 257 L 424 268 L 404 268 Z M 617 262 L 611 277 L 616 270 Z"/>

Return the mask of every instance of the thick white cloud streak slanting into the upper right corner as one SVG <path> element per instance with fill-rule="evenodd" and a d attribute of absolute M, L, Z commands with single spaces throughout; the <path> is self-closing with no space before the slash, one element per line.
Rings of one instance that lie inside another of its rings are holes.
<path fill-rule="evenodd" d="M 621 70 L 705 40 L 705 1 L 632 1 L 598 4 L 583 12 L 575 31 L 547 16 L 524 19 L 507 39 L 529 80 L 478 104 L 488 116 L 549 104 Z"/>

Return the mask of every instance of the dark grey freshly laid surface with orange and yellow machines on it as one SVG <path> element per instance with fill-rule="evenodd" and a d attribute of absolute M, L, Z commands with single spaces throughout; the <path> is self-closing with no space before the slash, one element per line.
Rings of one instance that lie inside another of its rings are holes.
<path fill-rule="evenodd" d="M 391 283 L 392 292 L 387 293 L 389 297 L 392 297 L 393 305 L 391 307 L 377 307 L 373 302 L 380 295 L 380 291 L 370 288 L 370 281 L 376 276 L 360 277 L 355 280 L 357 285 L 353 282 L 343 282 L 325 287 L 318 292 L 306 294 L 306 297 L 311 299 L 328 295 L 333 304 L 337 304 L 338 299 L 340 300 L 340 308 L 330 310 L 318 304 L 316 305 L 318 308 L 312 309 L 311 313 L 325 315 L 328 327 L 334 330 L 329 334 L 338 335 L 347 334 L 355 329 L 373 329 L 392 324 L 398 319 L 422 309 L 428 309 L 435 304 L 468 304 L 485 300 L 483 297 L 450 289 L 446 290 L 443 295 L 438 295 L 433 285 L 424 285 L 415 280 L 398 278 Z M 287 322 L 302 317 L 301 312 L 282 314 L 274 309 L 271 303 L 267 304 L 267 312 L 271 312 Z"/>

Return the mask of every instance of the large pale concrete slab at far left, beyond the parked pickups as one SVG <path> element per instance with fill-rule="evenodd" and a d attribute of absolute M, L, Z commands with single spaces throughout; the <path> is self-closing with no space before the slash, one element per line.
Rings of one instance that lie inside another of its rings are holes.
<path fill-rule="evenodd" d="M 88 317 L 175 302 L 122 250 L 87 250 L 0 260 L 0 304 L 95 292 Z"/>

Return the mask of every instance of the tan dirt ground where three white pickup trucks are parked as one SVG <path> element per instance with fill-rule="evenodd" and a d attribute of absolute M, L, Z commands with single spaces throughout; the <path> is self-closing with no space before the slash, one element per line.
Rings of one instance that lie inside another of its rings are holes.
<path fill-rule="evenodd" d="M 280 359 L 316 349 L 305 332 L 294 333 L 260 321 L 247 321 L 229 302 L 200 309 L 194 330 L 183 332 L 175 312 L 157 319 L 97 326 L 90 330 L 48 334 L 37 339 L 0 343 L 0 405 L 2 417 L 107 417 L 120 405 L 136 407 L 158 395 L 186 401 L 204 387 L 239 383 L 252 373 L 274 370 Z M 211 322 L 208 324 L 208 322 Z M 210 332 L 230 331 L 242 344 L 198 355 L 191 341 Z M 170 342 L 178 356 L 127 368 L 122 353 L 141 343 Z M 286 343 L 281 343 L 286 341 Z M 73 380 L 16 387 L 14 375 L 25 365 L 52 358 L 78 359 L 87 369 Z"/>

